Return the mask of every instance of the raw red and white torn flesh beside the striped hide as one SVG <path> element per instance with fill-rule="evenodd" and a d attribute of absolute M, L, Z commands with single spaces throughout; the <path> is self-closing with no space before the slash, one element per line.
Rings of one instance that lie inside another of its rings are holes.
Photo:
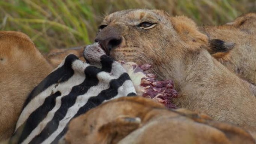
<path fill-rule="evenodd" d="M 174 98 L 177 98 L 178 93 L 173 89 L 174 83 L 172 80 L 156 80 L 156 76 L 147 73 L 151 65 L 137 65 L 134 62 L 121 62 L 134 83 L 137 95 L 142 95 L 146 98 L 154 99 L 167 108 L 177 108 L 172 103 Z"/>

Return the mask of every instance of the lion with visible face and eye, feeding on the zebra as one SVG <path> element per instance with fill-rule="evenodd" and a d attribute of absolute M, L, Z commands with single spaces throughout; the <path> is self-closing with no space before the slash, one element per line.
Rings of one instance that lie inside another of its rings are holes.
<path fill-rule="evenodd" d="M 150 64 L 159 79 L 172 79 L 178 107 L 255 131 L 256 98 L 250 83 L 210 55 L 210 39 L 192 19 L 163 10 L 131 9 L 106 16 L 99 28 L 95 42 L 108 55 Z"/>

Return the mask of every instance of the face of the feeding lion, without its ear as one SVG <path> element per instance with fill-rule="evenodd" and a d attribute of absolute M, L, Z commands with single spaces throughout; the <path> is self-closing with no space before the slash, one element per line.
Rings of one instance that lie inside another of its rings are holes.
<path fill-rule="evenodd" d="M 116 60 L 141 63 L 154 55 L 161 58 L 164 53 L 159 53 L 159 49 L 165 47 L 164 43 L 168 43 L 171 35 L 167 31 L 171 32 L 173 28 L 169 16 L 163 11 L 124 10 L 106 16 L 95 40 L 111 39 L 106 44 L 109 48 L 104 49 Z M 114 40 L 119 40 L 120 44 L 116 43 L 110 48 Z M 165 52 L 165 49 L 162 51 Z"/>

